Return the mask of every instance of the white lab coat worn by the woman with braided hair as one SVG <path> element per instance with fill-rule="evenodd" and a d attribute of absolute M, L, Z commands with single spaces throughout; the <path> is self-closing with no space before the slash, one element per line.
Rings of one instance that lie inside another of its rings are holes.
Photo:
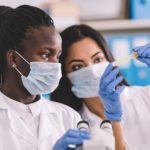
<path fill-rule="evenodd" d="M 39 138 L 31 134 L 17 114 L 9 110 L 0 92 L 0 150 L 52 150 L 55 142 L 81 120 L 73 109 L 42 98 Z"/>

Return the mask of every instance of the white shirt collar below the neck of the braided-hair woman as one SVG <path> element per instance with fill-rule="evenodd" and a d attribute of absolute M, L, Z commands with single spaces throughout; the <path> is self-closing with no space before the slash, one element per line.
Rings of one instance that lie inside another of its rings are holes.
<path fill-rule="evenodd" d="M 17 113 L 20 117 L 25 118 L 28 114 L 33 115 L 33 117 L 38 116 L 41 112 L 42 107 L 42 100 L 40 100 L 31 103 L 31 104 L 23 104 L 21 102 L 15 101 L 6 95 L 4 95 L 2 92 L 2 97 L 7 103 L 9 109 L 13 110 L 15 113 Z"/>

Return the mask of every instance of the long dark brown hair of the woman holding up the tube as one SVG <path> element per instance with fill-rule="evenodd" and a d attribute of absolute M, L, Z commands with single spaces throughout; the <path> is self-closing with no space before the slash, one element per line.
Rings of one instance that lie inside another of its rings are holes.
<path fill-rule="evenodd" d="M 82 99 L 77 98 L 71 91 L 71 84 L 66 76 L 66 70 L 64 67 L 64 60 L 67 57 L 68 48 L 73 43 L 80 41 L 86 37 L 90 37 L 97 42 L 109 62 L 113 62 L 114 58 L 103 36 L 87 25 L 82 24 L 70 26 L 61 33 L 61 37 L 62 54 L 60 57 L 60 63 L 62 64 L 62 78 L 57 89 L 53 93 L 51 93 L 51 100 L 66 104 L 79 111 L 82 107 Z M 123 83 L 125 85 L 128 85 L 125 80 L 123 81 Z"/>

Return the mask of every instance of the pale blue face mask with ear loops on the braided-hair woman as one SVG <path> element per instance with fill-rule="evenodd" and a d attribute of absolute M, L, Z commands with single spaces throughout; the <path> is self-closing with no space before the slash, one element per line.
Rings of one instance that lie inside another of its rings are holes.
<path fill-rule="evenodd" d="M 49 94 L 57 88 L 62 76 L 60 63 L 29 63 L 21 54 L 16 53 L 30 65 L 30 72 L 27 77 L 17 67 L 15 69 L 21 74 L 22 83 L 31 95 Z"/>

